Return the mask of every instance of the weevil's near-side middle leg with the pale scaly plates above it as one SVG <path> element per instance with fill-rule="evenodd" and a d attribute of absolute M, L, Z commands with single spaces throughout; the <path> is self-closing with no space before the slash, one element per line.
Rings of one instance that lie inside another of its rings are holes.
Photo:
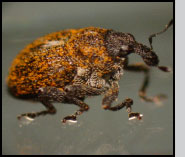
<path fill-rule="evenodd" d="M 91 69 L 77 68 L 77 75 L 73 84 L 67 85 L 64 90 L 66 92 L 65 101 L 79 106 L 80 109 L 74 114 L 66 116 L 62 121 L 63 123 L 67 120 L 75 122 L 78 115 L 88 111 L 89 106 L 83 102 L 86 96 L 100 95 L 106 90 L 106 87 L 102 88 L 105 81 L 96 76 L 96 72 L 91 73 Z"/>

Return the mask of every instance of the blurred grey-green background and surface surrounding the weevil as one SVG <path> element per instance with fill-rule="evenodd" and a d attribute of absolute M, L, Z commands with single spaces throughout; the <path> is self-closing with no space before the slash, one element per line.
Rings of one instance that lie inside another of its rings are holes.
<path fill-rule="evenodd" d="M 125 109 L 117 112 L 101 108 L 102 96 L 85 100 L 90 110 L 78 122 L 62 124 L 63 117 L 78 107 L 55 103 L 57 114 L 41 116 L 32 122 L 16 116 L 40 111 L 39 102 L 12 97 L 5 79 L 12 60 L 27 44 L 45 34 L 87 26 L 111 28 L 133 34 L 149 45 L 148 37 L 161 31 L 173 18 L 173 3 L 2 3 L 2 150 L 3 154 L 173 154 L 173 72 L 151 68 L 147 94 L 166 94 L 162 104 L 140 100 L 142 73 L 125 72 L 120 81 L 118 102 L 134 100 L 133 111 L 141 121 L 128 120 Z M 173 68 L 173 29 L 153 39 L 160 65 Z M 142 61 L 130 55 L 130 63 Z"/>

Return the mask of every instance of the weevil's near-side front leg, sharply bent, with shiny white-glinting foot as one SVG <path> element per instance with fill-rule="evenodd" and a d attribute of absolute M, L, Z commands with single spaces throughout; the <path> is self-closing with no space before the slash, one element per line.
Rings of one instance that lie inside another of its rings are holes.
<path fill-rule="evenodd" d="M 102 107 L 105 110 L 111 110 L 111 111 L 118 111 L 122 109 L 123 107 L 126 107 L 126 111 L 128 112 L 129 120 L 138 118 L 139 120 L 143 116 L 142 114 L 138 112 L 131 112 L 131 105 L 133 105 L 133 100 L 130 98 L 126 98 L 123 102 L 111 106 L 112 102 L 116 100 L 119 93 L 119 86 L 118 82 L 113 82 L 112 87 L 105 93 L 105 96 L 102 101 Z"/>

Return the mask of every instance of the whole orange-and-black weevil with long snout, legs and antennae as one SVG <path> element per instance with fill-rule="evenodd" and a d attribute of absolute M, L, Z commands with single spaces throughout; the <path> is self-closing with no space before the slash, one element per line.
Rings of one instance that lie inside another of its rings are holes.
<path fill-rule="evenodd" d="M 172 24 L 173 20 L 164 30 L 149 36 L 150 47 L 138 43 L 130 33 L 97 27 L 67 29 L 36 39 L 14 59 L 7 84 L 14 96 L 36 99 L 46 110 L 24 113 L 17 118 L 34 119 L 55 114 L 52 102 L 62 102 L 79 106 L 79 110 L 66 116 L 62 122 L 77 122 L 77 116 L 89 109 L 85 98 L 103 94 L 103 109 L 117 111 L 125 107 L 129 119 L 141 119 L 142 114 L 131 110 L 131 98 L 111 105 L 118 97 L 118 82 L 124 70 L 143 72 L 145 79 L 139 96 L 147 102 L 156 102 L 163 97 L 146 95 L 150 67 L 169 71 L 167 67 L 158 65 L 152 38 L 165 32 Z M 132 53 L 141 56 L 144 63 L 129 65 L 128 56 Z"/>

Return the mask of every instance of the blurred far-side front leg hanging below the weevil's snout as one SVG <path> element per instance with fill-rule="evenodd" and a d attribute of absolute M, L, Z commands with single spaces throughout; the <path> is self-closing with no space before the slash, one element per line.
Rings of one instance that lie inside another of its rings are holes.
<path fill-rule="evenodd" d="M 135 63 L 132 65 L 128 65 L 125 70 L 132 71 L 132 72 L 144 72 L 145 78 L 143 81 L 143 84 L 139 90 L 139 96 L 141 97 L 142 100 L 147 101 L 147 102 L 155 102 L 159 103 L 163 99 L 166 98 L 166 95 L 164 94 L 159 94 L 154 97 L 148 97 L 146 95 L 146 89 L 149 85 L 149 80 L 150 80 L 150 69 L 148 66 L 146 66 L 144 63 Z"/>

